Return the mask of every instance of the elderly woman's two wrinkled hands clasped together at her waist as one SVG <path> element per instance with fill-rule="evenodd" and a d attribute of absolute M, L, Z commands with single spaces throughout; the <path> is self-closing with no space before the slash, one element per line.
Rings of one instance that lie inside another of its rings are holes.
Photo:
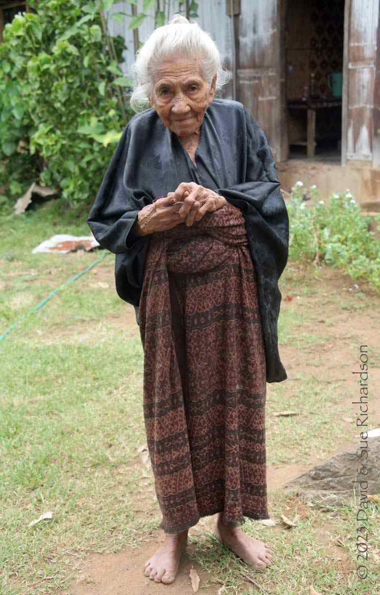
<path fill-rule="evenodd" d="M 143 234 L 164 231 L 186 221 L 187 226 L 227 204 L 224 196 L 195 182 L 182 182 L 177 190 L 157 199 L 139 211 L 138 220 Z"/>

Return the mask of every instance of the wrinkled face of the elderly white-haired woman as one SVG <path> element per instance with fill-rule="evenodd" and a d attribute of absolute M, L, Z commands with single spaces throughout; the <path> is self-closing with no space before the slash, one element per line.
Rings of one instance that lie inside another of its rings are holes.
<path fill-rule="evenodd" d="M 216 74 L 211 84 L 203 79 L 200 58 L 174 56 L 156 69 L 149 102 L 165 126 L 178 136 L 189 136 L 202 124 L 215 83 Z"/>

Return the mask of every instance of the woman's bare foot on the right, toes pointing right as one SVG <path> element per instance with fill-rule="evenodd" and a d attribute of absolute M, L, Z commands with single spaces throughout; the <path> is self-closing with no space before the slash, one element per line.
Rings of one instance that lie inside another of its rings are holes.
<path fill-rule="evenodd" d="M 228 527 L 221 522 L 222 513 L 219 513 L 215 528 L 215 537 L 230 547 L 233 552 L 244 562 L 257 570 L 263 570 L 267 564 L 272 563 L 273 550 L 259 539 L 250 537 L 238 527 Z"/>

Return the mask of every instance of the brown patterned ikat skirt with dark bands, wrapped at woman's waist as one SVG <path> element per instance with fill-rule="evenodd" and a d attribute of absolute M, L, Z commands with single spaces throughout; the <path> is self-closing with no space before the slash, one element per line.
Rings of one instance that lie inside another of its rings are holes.
<path fill-rule="evenodd" d="M 152 234 L 140 333 L 159 526 L 178 533 L 216 512 L 230 525 L 269 518 L 265 350 L 240 209 Z"/>

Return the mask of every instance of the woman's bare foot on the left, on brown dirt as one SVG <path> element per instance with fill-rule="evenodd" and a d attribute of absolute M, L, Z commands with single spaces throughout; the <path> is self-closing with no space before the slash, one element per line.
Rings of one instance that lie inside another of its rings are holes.
<path fill-rule="evenodd" d="M 170 584 L 174 581 L 180 566 L 181 556 L 186 550 L 188 531 L 166 533 L 166 543 L 152 558 L 146 560 L 144 574 L 155 583 Z"/>

